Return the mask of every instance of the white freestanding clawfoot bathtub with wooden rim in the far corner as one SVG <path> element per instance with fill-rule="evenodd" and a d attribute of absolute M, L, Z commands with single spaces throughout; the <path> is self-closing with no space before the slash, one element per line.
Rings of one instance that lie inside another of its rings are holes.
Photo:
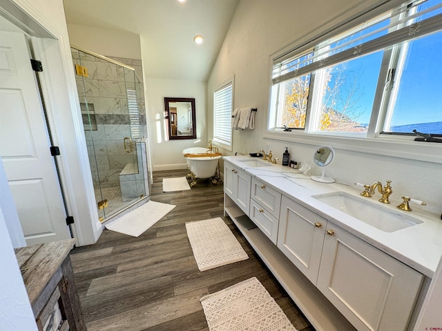
<path fill-rule="evenodd" d="M 192 147 L 183 150 L 182 154 L 186 158 L 187 168 L 190 170 L 187 177 L 193 179 L 191 186 L 196 184 L 198 178 L 213 179 L 215 177 L 218 160 L 222 157 L 221 153 L 210 152 L 204 147 Z M 212 181 L 213 183 L 218 182 L 217 179 Z"/>

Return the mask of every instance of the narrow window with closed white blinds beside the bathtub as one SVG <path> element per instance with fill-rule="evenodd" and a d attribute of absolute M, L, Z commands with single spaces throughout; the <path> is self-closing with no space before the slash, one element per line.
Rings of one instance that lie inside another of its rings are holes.
<path fill-rule="evenodd" d="M 213 142 L 232 150 L 233 77 L 213 92 Z"/>

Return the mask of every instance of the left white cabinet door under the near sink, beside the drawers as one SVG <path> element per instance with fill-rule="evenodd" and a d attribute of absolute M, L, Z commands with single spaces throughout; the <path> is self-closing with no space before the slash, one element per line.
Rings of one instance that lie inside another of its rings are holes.
<path fill-rule="evenodd" d="M 282 196 L 278 248 L 316 285 L 327 220 Z"/>

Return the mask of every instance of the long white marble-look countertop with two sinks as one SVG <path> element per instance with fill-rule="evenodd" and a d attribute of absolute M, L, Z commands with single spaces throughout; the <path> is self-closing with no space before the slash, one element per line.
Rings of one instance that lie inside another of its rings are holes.
<path fill-rule="evenodd" d="M 271 185 L 278 192 L 294 199 L 294 201 L 304 205 L 309 210 L 316 212 L 316 214 L 319 214 L 328 221 L 332 221 L 332 223 L 367 241 L 367 243 L 383 250 L 392 257 L 425 274 L 425 276 L 433 277 L 442 255 L 442 221 L 439 214 L 427 212 L 423 208 L 412 204 L 413 211 L 410 212 L 410 216 L 421 219 L 423 223 L 395 232 L 384 232 L 311 197 L 316 194 L 338 191 L 354 194 L 358 197 L 363 189 L 354 187 L 352 183 L 318 183 L 312 181 L 309 176 L 300 174 L 298 170 L 287 166 L 269 163 L 267 166 L 253 168 L 247 165 L 247 162 L 241 162 L 244 159 L 258 159 L 262 161 L 261 158 L 256 157 L 238 156 L 223 158 L 251 174 L 252 177 L 264 181 L 267 185 Z M 380 198 L 381 194 L 376 192 L 372 198 L 361 199 L 372 199 L 371 201 L 380 203 L 377 201 Z M 392 208 L 394 212 L 408 213 L 396 208 L 396 205 L 401 203 L 400 197 L 396 199 L 396 197 L 391 196 L 390 201 L 391 203 L 388 205 L 385 203 L 380 204 L 386 208 Z"/>

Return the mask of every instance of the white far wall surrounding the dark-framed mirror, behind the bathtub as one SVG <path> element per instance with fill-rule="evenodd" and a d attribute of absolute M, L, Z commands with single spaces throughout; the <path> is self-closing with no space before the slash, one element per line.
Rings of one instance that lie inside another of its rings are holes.
<path fill-rule="evenodd" d="M 185 169 L 182 150 L 206 146 L 206 83 L 202 81 L 179 81 L 148 77 L 144 72 L 147 91 L 148 134 L 151 138 L 153 170 Z M 197 139 L 167 140 L 164 125 L 164 97 L 195 98 Z M 197 142 L 198 140 L 201 140 Z M 195 143 L 196 142 L 196 143 Z"/>

